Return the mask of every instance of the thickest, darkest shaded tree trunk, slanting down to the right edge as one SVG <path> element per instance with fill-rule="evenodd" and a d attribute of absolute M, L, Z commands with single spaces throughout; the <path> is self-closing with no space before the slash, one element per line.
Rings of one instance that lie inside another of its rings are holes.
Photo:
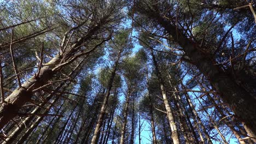
<path fill-rule="evenodd" d="M 183 47 L 193 64 L 210 80 L 212 87 L 216 89 L 223 101 L 234 111 L 237 118 L 241 119 L 249 136 L 256 137 L 255 95 L 238 85 L 228 72 L 224 72 L 216 65 L 213 56 L 200 51 L 200 44 L 189 40 L 177 26 L 172 25 L 157 11 L 142 11 L 142 13 L 155 19 L 168 34 L 172 35 L 173 40 Z"/>

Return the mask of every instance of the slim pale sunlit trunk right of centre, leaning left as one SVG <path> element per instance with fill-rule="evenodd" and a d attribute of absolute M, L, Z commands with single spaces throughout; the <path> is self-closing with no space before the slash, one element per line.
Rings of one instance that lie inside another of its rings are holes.
<path fill-rule="evenodd" d="M 165 86 L 164 86 L 164 82 L 162 81 L 160 71 L 158 69 L 158 63 L 155 60 L 153 50 L 150 49 L 150 51 L 151 51 L 151 55 L 152 55 L 156 75 L 158 76 L 158 80 L 159 80 L 159 83 L 160 83 L 160 89 L 161 89 L 161 92 L 162 92 L 162 98 L 164 99 L 165 109 L 166 109 L 166 112 L 167 112 L 167 118 L 168 118 L 168 121 L 169 121 L 169 124 L 170 124 L 170 127 L 171 127 L 171 131 L 172 131 L 172 140 L 173 140 L 174 144 L 178 144 L 180 142 L 179 142 L 179 134 L 178 134 L 178 130 L 177 130 L 177 125 L 174 121 L 171 106 L 170 106 L 169 101 L 166 97 Z"/>

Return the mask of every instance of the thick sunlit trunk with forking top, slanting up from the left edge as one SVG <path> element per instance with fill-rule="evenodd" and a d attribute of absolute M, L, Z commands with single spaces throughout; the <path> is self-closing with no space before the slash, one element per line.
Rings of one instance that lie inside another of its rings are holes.
<path fill-rule="evenodd" d="M 103 25 L 103 22 L 101 22 L 101 24 Z M 31 76 L 30 79 L 28 79 L 20 87 L 16 88 L 7 98 L 4 99 L 5 103 L 2 103 L 0 106 L 0 129 L 2 129 L 5 124 L 18 115 L 18 111 L 22 108 L 22 106 L 31 100 L 33 93 L 36 92 L 34 90 L 38 90 L 43 88 L 46 84 L 50 84 L 48 81 L 51 80 L 61 68 L 75 61 L 78 56 L 88 55 L 89 53 L 95 51 L 95 49 L 104 43 L 104 41 L 110 39 L 109 37 L 108 39 L 101 41 L 101 43 L 97 44 L 88 52 L 76 53 L 80 55 L 74 56 L 75 52 L 78 51 L 78 47 L 82 46 L 85 41 L 90 40 L 91 36 L 94 35 L 99 29 L 101 29 L 101 25 L 92 27 L 90 31 L 88 31 L 87 35 L 79 38 L 73 45 L 69 47 L 70 51 L 67 51 L 67 53 L 65 53 L 66 51 L 60 52 L 48 63 L 44 64 L 44 67 L 40 67 L 38 74 Z M 63 40 L 65 40 L 65 38 Z M 65 63 L 62 63 L 63 61 L 61 61 L 63 60 L 63 55 L 66 56 L 65 58 L 70 58 Z"/>

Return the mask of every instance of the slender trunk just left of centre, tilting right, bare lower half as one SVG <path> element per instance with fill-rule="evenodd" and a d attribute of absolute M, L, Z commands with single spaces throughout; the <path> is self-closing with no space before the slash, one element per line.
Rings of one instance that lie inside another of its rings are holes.
<path fill-rule="evenodd" d="M 113 86 L 115 71 L 117 71 L 118 62 L 119 62 L 120 57 L 121 57 L 121 51 L 119 51 L 117 60 L 114 63 L 114 69 L 111 73 L 111 77 L 110 77 L 109 82 L 108 82 L 107 92 L 104 95 L 103 104 L 101 106 L 100 115 L 98 116 L 98 121 L 97 121 L 97 124 L 96 124 L 96 128 L 94 130 L 94 136 L 92 137 L 91 144 L 96 144 L 98 142 L 98 136 L 99 136 L 98 133 L 100 132 L 100 128 L 102 126 L 104 113 L 105 113 L 105 110 L 106 110 L 106 107 L 107 107 L 107 104 L 108 104 L 108 98 L 109 98 L 110 91 L 111 91 L 112 86 Z"/>

